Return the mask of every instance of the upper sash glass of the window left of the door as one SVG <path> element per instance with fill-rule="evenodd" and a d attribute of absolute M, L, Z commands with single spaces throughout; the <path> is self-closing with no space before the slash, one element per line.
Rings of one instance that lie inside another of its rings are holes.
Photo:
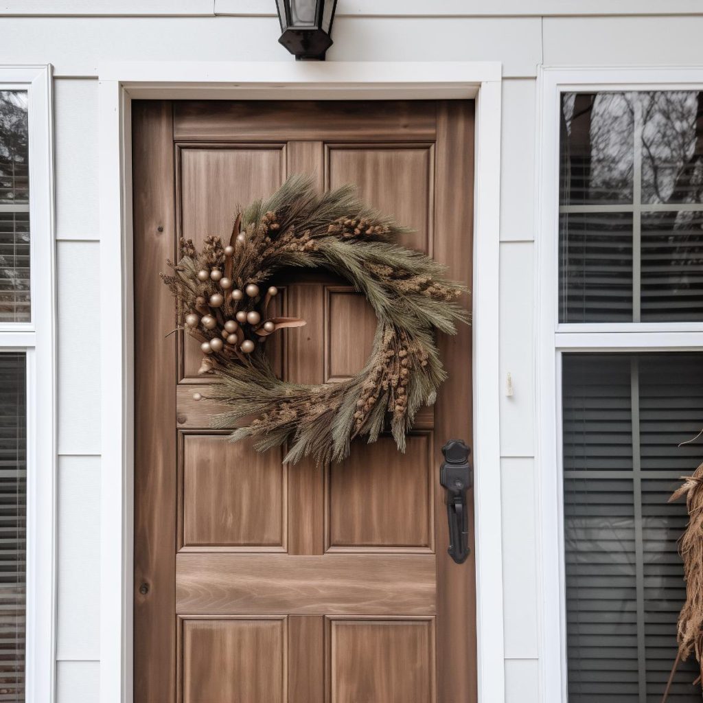
<path fill-rule="evenodd" d="M 30 321 L 27 92 L 0 91 L 0 322 Z"/>

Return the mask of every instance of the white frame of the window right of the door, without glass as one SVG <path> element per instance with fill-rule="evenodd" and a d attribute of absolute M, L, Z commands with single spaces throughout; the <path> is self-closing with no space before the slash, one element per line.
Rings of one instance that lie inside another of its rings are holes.
<path fill-rule="evenodd" d="M 703 66 L 542 67 L 538 73 L 536 214 L 537 466 L 540 517 L 541 700 L 567 702 L 562 491 L 561 360 L 564 352 L 703 350 L 703 322 L 560 323 L 558 315 L 561 94 L 572 91 L 703 90 Z M 694 467 L 692 467 L 694 468 Z"/>

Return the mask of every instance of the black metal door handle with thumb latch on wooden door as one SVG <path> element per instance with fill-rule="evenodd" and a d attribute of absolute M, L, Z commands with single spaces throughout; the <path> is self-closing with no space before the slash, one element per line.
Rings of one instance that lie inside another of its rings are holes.
<path fill-rule="evenodd" d="M 449 556 L 463 564 L 470 553 L 469 516 L 466 491 L 473 485 L 471 448 L 460 439 L 450 439 L 442 448 L 444 461 L 439 468 L 439 482 L 446 488 L 446 515 L 449 520 Z"/>

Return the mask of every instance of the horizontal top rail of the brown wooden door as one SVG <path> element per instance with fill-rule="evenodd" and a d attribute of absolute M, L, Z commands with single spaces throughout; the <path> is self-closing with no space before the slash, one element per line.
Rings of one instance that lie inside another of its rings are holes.
<path fill-rule="evenodd" d="M 188 101 L 175 103 L 179 140 L 434 140 L 434 101 Z"/>

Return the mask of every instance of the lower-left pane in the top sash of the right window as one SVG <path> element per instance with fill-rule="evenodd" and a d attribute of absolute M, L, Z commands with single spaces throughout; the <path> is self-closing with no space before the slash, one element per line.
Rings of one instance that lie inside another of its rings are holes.
<path fill-rule="evenodd" d="M 560 320 L 632 320 L 632 215 L 560 216 Z"/>

